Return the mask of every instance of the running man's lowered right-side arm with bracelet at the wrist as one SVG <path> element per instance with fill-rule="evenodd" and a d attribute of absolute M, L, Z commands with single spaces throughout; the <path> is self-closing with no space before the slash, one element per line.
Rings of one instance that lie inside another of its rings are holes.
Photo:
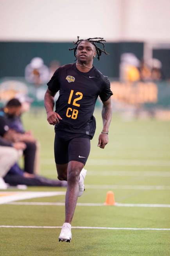
<path fill-rule="evenodd" d="M 102 119 L 103 119 L 103 129 L 102 132 L 109 132 L 109 125 L 111 123 L 112 117 L 112 104 L 111 104 L 111 97 L 107 101 L 103 101 L 103 108 L 102 108 Z M 98 145 L 100 148 L 104 148 L 106 144 L 109 142 L 108 134 L 100 133 L 98 137 Z"/>

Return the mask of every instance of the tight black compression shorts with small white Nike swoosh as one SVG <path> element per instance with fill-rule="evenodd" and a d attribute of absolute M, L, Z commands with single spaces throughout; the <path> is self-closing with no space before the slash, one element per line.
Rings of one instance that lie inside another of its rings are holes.
<path fill-rule="evenodd" d="M 85 165 L 89 156 L 89 152 L 89 138 L 67 132 L 55 133 L 55 163 L 62 165 L 70 161 L 77 161 Z"/>

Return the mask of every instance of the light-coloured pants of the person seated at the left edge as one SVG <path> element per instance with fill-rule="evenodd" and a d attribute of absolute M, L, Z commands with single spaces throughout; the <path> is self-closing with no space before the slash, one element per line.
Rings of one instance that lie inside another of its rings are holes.
<path fill-rule="evenodd" d="M 3 178 L 7 174 L 21 155 L 21 150 L 16 150 L 13 147 L 0 146 L 0 177 Z"/>

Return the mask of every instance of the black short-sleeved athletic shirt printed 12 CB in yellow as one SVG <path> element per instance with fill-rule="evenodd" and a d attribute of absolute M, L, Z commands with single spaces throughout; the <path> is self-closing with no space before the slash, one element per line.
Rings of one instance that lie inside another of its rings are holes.
<path fill-rule="evenodd" d="M 94 66 L 87 73 L 81 72 L 74 63 L 58 68 L 47 85 L 50 91 L 59 91 L 55 112 L 62 120 L 55 125 L 55 132 L 79 133 L 92 139 L 96 129 L 93 112 L 97 97 L 107 101 L 113 95 L 108 78 Z"/>

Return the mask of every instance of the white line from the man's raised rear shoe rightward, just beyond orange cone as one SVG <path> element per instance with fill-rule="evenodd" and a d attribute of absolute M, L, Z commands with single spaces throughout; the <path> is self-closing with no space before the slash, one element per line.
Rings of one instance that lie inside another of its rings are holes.
<path fill-rule="evenodd" d="M 136 189 L 136 190 L 170 190 L 170 186 L 162 185 L 85 185 L 91 189 Z"/>

